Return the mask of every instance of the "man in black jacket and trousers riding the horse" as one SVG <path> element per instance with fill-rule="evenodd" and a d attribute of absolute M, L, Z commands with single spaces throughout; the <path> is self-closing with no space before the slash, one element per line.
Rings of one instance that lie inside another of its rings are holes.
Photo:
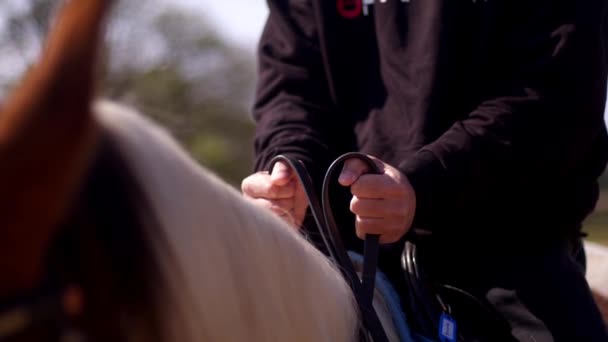
<path fill-rule="evenodd" d="M 365 153 L 381 173 L 347 160 L 334 207 L 350 208 L 347 248 L 379 235 L 404 297 L 402 251 L 422 228 L 429 277 L 485 302 L 513 339 L 608 340 L 579 258 L 608 160 L 606 1 L 268 4 L 246 197 L 314 238 L 295 173 L 269 164 L 301 161 L 319 190 L 335 158 Z"/>

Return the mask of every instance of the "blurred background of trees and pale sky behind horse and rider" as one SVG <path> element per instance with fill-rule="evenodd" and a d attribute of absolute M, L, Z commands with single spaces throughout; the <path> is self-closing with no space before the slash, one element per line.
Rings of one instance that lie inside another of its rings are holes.
<path fill-rule="evenodd" d="M 0 0 L 0 102 L 40 51 L 60 1 Z M 255 47 L 264 0 L 121 0 L 107 35 L 102 95 L 160 122 L 238 186 L 252 168 Z M 608 245 L 608 173 L 588 239 Z"/>

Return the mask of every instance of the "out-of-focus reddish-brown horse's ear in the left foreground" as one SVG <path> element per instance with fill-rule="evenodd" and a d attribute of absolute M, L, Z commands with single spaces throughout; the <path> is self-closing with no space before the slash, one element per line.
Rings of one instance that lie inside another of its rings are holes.
<path fill-rule="evenodd" d="M 97 142 L 91 115 L 102 22 L 112 1 L 67 1 L 40 62 L 0 113 L 0 295 L 40 282 L 44 251 Z"/>

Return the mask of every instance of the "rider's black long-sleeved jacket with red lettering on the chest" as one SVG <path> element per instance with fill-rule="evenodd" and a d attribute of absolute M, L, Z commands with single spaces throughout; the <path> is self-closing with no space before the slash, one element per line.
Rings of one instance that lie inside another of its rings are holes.
<path fill-rule="evenodd" d="M 370 3 L 268 2 L 256 170 L 286 153 L 318 180 L 356 150 L 406 174 L 415 225 L 450 243 L 575 232 L 608 155 L 605 1 Z"/>

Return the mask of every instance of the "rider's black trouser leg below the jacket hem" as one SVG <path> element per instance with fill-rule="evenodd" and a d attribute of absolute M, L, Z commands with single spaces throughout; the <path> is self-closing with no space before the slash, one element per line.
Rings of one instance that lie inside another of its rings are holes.
<path fill-rule="evenodd" d="M 464 256 L 451 258 L 453 250 L 421 246 L 419 261 L 436 282 L 490 305 L 508 321 L 516 341 L 608 341 L 608 327 L 584 278 L 581 247 L 581 240 L 573 239 L 512 255 L 463 249 Z M 456 302 L 455 308 L 469 329 L 482 321 L 471 317 L 479 313 L 474 305 Z"/>

